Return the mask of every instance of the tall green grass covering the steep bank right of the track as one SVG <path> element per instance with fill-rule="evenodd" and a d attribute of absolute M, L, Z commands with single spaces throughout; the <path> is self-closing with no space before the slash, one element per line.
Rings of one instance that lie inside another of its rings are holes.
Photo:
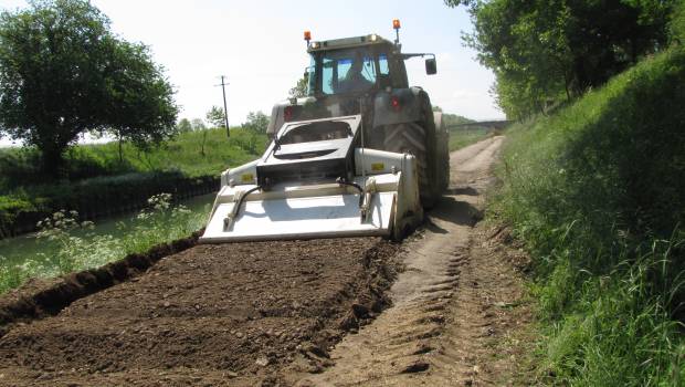
<path fill-rule="evenodd" d="M 508 130 L 491 217 L 533 257 L 549 384 L 685 385 L 685 49 Z"/>

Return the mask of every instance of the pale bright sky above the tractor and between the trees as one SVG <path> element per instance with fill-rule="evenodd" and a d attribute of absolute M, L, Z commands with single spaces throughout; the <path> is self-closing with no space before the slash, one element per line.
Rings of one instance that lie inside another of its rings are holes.
<path fill-rule="evenodd" d="M 287 97 L 309 63 L 305 30 L 314 41 L 378 33 L 392 40 L 400 19 L 403 52 L 431 52 L 438 74 L 425 75 L 423 61 L 407 62 L 410 85 L 422 86 L 433 105 L 474 119 L 503 118 L 488 90 L 492 72 L 463 46 L 472 24 L 463 7 L 442 0 L 92 0 L 120 38 L 148 45 L 175 86 L 179 118 L 204 118 L 223 104 L 225 75 L 229 122 L 250 112 L 271 114 Z M 0 0 L 0 10 L 25 8 L 24 0 Z M 7 144 L 0 140 L 0 144 Z"/>

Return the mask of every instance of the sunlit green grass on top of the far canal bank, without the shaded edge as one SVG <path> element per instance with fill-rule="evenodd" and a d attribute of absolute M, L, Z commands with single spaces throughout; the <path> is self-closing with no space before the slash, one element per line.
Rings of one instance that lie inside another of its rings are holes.
<path fill-rule="evenodd" d="M 253 160 L 266 146 L 266 136 L 250 129 L 232 128 L 226 138 L 224 129 L 208 129 L 205 153 L 200 157 L 202 130 L 183 133 L 165 146 L 141 150 L 129 143 L 123 144 L 124 161 L 118 159 L 118 144 L 88 144 L 74 146 L 66 154 L 65 184 L 87 184 L 85 179 L 123 174 L 172 172 L 186 177 L 217 176 L 229 166 Z M 251 143 L 254 143 L 252 145 Z M 33 191 L 43 186 L 44 178 L 35 164 L 34 149 L 9 148 L 0 150 L 0 195 L 17 192 L 18 187 Z M 54 185 L 54 184 L 50 184 Z"/>

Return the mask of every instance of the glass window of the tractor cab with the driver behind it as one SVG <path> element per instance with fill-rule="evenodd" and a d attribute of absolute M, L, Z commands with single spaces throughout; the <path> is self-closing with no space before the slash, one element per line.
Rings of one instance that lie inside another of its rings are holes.
<path fill-rule="evenodd" d="M 323 94 L 365 92 L 376 84 L 376 59 L 368 50 L 337 50 L 317 55 Z"/>

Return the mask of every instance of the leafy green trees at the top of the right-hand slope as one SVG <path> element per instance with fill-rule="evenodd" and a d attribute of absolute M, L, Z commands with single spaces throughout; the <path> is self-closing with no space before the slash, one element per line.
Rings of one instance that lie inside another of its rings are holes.
<path fill-rule="evenodd" d="M 470 7 L 465 36 L 495 72 L 510 118 L 546 113 L 601 86 L 667 42 L 668 1 L 446 0 Z"/>

